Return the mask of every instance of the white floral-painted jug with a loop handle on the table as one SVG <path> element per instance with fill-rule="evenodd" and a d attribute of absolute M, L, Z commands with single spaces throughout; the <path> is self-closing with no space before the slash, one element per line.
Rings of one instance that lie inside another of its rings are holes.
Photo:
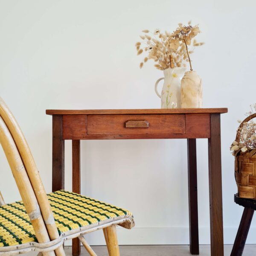
<path fill-rule="evenodd" d="M 163 70 L 164 77 L 155 83 L 155 92 L 161 98 L 161 108 L 180 108 L 180 83 L 186 67 L 174 67 Z M 164 79 L 161 95 L 157 91 L 158 83 Z"/>

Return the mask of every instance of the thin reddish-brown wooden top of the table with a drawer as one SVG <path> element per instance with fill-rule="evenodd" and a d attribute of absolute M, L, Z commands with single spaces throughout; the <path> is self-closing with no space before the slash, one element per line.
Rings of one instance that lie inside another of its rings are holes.
<path fill-rule="evenodd" d="M 47 109 L 47 115 L 127 115 L 127 114 L 186 114 L 186 113 L 227 113 L 227 108 L 172 108 L 172 109 L 92 109 L 55 110 Z"/>

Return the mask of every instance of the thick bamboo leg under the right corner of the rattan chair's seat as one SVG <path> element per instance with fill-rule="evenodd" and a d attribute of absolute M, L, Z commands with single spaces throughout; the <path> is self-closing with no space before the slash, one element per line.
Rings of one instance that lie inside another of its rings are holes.
<path fill-rule="evenodd" d="M 117 236 L 116 236 L 116 225 L 105 227 L 103 229 L 103 233 L 104 233 L 106 244 L 108 247 L 108 255 L 120 256 Z"/>

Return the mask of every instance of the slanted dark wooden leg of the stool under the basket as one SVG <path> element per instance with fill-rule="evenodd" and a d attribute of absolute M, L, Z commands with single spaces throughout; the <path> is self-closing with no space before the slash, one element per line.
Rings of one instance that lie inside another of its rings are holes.
<path fill-rule="evenodd" d="M 244 212 L 241 218 L 241 222 L 236 234 L 236 239 L 233 245 L 230 256 L 241 256 L 243 254 L 244 245 L 247 239 L 247 235 L 250 229 L 250 224 L 253 218 L 254 210 L 244 207 Z"/>

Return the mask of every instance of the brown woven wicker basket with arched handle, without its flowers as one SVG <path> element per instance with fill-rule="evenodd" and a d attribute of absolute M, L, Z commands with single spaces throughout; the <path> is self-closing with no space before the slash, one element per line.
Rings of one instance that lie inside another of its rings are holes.
<path fill-rule="evenodd" d="M 241 122 L 239 128 L 244 122 L 249 122 L 256 117 L 256 113 L 248 116 Z M 239 135 L 236 134 L 236 141 L 239 141 Z M 256 199 L 256 149 L 242 153 L 239 151 L 235 159 L 235 178 L 240 198 Z"/>

